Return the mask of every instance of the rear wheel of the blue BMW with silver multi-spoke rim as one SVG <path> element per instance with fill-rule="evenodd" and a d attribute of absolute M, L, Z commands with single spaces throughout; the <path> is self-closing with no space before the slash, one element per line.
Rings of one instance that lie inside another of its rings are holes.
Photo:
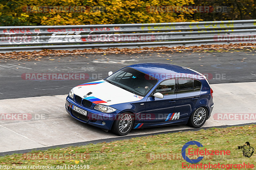
<path fill-rule="evenodd" d="M 199 107 L 189 117 L 188 125 L 193 128 L 200 128 L 206 122 L 207 117 L 208 110 L 205 107 Z"/>

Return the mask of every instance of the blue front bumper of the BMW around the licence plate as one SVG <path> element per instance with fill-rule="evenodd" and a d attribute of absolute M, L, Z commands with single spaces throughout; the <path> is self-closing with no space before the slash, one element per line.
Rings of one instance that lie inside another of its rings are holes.
<path fill-rule="evenodd" d="M 76 107 L 86 110 L 87 116 L 81 115 L 78 112 L 74 111 L 71 108 L 72 105 L 75 105 Z M 120 113 L 120 111 L 116 110 L 112 113 L 102 113 L 98 110 L 93 109 L 95 105 L 96 104 L 93 103 L 91 107 L 84 107 L 76 103 L 69 96 L 67 96 L 65 108 L 69 115 L 71 115 L 76 120 L 79 120 L 80 122 L 90 124 L 102 129 L 110 130 L 116 118 L 116 115 Z M 102 122 L 105 122 L 105 124 L 103 125 Z"/>

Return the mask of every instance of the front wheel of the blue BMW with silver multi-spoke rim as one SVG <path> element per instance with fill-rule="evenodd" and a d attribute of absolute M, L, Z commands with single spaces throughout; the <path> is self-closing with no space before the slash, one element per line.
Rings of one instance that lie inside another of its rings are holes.
<path fill-rule="evenodd" d="M 132 130 L 133 122 L 134 121 L 133 121 L 132 113 L 124 112 L 124 113 L 119 114 L 117 116 L 117 119 L 113 123 L 113 126 L 112 126 L 111 130 L 116 135 L 125 136 Z M 125 124 L 127 125 L 127 128 L 125 128 L 125 126 L 126 126 Z M 124 129 L 122 129 L 122 126 L 123 126 Z"/>

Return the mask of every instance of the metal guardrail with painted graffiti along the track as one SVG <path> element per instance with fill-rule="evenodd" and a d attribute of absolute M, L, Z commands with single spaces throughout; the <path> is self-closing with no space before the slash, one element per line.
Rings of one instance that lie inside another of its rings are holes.
<path fill-rule="evenodd" d="M 41 49 L 173 47 L 254 42 L 256 20 L 151 24 L 2 26 L 0 52 Z M 221 41 L 218 35 L 228 37 Z M 245 36 L 244 36 L 245 35 Z M 239 37 L 234 41 L 234 37 Z M 241 38 L 241 36 L 244 36 Z M 233 37 L 233 39 L 229 38 Z"/>

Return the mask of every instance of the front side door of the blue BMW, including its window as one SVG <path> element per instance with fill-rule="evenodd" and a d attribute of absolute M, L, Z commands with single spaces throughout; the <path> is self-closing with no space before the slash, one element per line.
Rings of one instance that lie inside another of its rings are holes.
<path fill-rule="evenodd" d="M 149 96 L 146 102 L 144 123 L 158 123 L 171 121 L 172 113 L 175 108 L 176 94 L 175 78 L 164 80 L 152 93 L 160 92 L 164 95 L 163 99 Z"/>

